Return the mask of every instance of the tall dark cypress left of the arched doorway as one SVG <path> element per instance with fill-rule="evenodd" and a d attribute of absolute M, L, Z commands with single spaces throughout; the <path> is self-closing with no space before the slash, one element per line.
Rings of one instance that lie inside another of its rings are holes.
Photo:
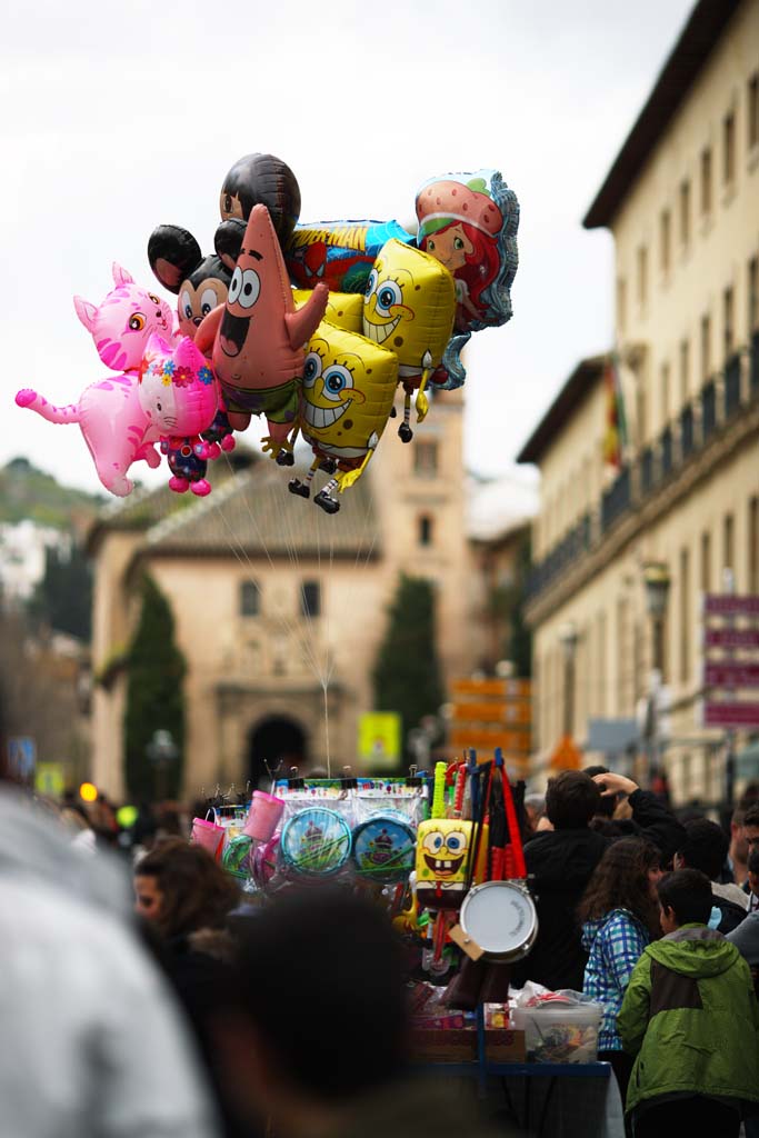
<path fill-rule="evenodd" d="M 175 798 L 184 751 L 184 657 L 174 640 L 174 616 L 156 583 L 145 577 L 142 611 L 129 652 L 124 715 L 125 777 L 134 798 Z M 178 757 L 159 773 L 148 748 L 157 731 L 171 733 Z"/>

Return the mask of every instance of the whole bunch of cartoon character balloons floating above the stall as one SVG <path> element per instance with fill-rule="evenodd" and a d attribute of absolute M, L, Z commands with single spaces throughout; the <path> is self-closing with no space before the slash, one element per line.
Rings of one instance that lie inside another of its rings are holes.
<path fill-rule="evenodd" d="M 397 221 L 298 224 L 295 174 L 273 155 L 237 162 L 220 193 L 214 253 L 179 225 L 158 225 L 148 259 L 178 308 L 114 265 L 97 306 L 74 298 L 114 374 L 79 403 L 56 407 L 31 388 L 19 406 L 50 422 L 76 422 L 102 485 L 123 496 L 132 462 L 166 455 L 170 486 L 205 495 L 207 462 L 264 415 L 264 451 L 294 463 L 298 435 L 313 451 L 292 494 L 339 510 L 336 492 L 362 475 L 398 386 L 398 435 L 411 442 L 429 410 L 427 390 L 461 386 L 472 332 L 511 316 L 519 205 L 497 171 L 434 178 L 416 195 L 416 234 Z"/>

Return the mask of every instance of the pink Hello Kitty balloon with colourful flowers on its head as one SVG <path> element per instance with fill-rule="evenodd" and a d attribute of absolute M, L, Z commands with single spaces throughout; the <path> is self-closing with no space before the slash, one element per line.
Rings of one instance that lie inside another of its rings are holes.
<path fill-rule="evenodd" d="M 218 393 L 211 365 L 188 336 L 176 347 L 154 335 L 140 364 L 139 399 L 172 471 L 170 487 L 178 494 L 189 488 L 211 494 L 206 460 L 214 448 L 200 438 L 214 421 Z"/>

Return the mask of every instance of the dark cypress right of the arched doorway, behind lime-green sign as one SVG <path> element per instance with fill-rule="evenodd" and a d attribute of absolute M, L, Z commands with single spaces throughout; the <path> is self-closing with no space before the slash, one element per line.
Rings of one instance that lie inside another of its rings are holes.
<path fill-rule="evenodd" d="M 374 708 L 397 711 L 403 739 L 445 700 L 435 634 L 435 591 L 422 577 L 401 575 L 372 673 Z"/>

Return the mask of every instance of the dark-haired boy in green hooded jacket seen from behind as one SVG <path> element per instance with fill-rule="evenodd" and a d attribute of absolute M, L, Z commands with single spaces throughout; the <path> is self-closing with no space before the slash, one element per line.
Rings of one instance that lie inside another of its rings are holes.
<path fill-rule="evenodd" d="M 711 883 L 677 869 L 658 887 L 661 940 L 633 970 L 617 1017 L 637 1055 L 627 1091 L 636 1138 L 678 1132 L 732 1138 L 759 1102 L 759 1008 L 734 945 L 707 927 Z"/>

